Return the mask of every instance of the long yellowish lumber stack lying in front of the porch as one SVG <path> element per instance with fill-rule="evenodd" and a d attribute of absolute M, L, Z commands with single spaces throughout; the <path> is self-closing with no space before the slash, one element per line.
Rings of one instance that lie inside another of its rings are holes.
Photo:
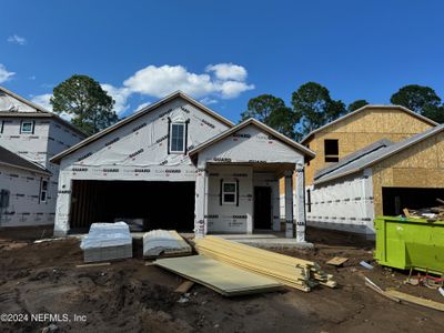
<path fill-rule="evenodd" d="M 195 241 L 200 254 L 244 269 L 302 291 L 317 284 L 336 286 L 333 275 L 325 274 L 312 262 L 275 252 L 256 249 L 218 236 L 205 236 Z"/>

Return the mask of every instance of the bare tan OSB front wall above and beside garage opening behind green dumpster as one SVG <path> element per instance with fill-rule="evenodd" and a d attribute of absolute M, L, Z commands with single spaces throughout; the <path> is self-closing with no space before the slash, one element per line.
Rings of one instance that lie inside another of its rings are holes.
<path fill-rule="evenodd" d="M 444 132 L 373 167 L 375 215 L 382 215 L 382 188 L 444 188 Z"/>

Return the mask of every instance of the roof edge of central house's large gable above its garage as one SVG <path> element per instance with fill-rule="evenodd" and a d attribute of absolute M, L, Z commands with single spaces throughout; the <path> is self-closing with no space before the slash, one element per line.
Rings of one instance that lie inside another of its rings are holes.
<path fill-rule="evenodd" d="M 206 114 L 209 114 L 209 115 L 218 119 L 219 121 L 223 122 L 229 128 L 234 125 L 234 123 L 231 122 L 230 120 L 228 120 L 226 118 L 218 114 L 213 110 L 211 110 L 211 109 L 206 108 L 205 105 L 201 104 L 200 102 L 193 100 L 191 97 L 189 97 L 188 94 L 183 93 L 182 91 L 175 91 L 175 92 L 169 94 L 168 97 L 159 100 L 158 102 L 152 103 L 152 104 L 150 104 L 150 105 L 148 105 L 145 108 L 142 108 L 139 111 L 135 111 L 130 117 L 122 119 L 121 121 L 114 123 L 113 125 L 111 125 L 111 127 L 109 127 L 109 128 L 107 128 L 107 129 L 104 129 L 104 130 L 102 130 L 102 131 L 100 131 L 100 132 L 98 132 L 95 134 L 92 134 L 91 137 L 84 139 L 83 141 L 80 141 L 79 143 L 72 145 L 71 148 L 62 151 L 61 153 L 59 153 L 56 157 L 53 157 L 51 159 L 51 162 L 59 164 L 61 159 L 63 159 L 64 157 L 73 153 L 74 151 L 81 149 L 82 147 L 85 147 L 87 144 L 90 144 L 91 142 L 94 142 L 94 141 L 99 140 L 100 138 L 107 135 L 108 133 L 111 133 L 112 131 L 115 131 L 117 129 L 125 125 L 127 123 L 132 122 L 135 119 L 139 119 L 140 117 L 142 117 L 142 115 L 144 115 L 144 114 L 158 109 L 159 107 L 161 107 L 163 104 L 167 104 L 168 102 L 170 102 L 170 101 L 172 101 L 172 100 L 174 100 L 176 98 L 184 99 L 190 104 L 196 107 L 198 109 L 202 110 Z"/>

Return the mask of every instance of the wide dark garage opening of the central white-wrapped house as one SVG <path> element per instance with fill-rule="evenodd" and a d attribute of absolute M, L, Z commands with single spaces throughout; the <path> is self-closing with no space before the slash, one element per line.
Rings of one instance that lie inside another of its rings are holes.
<path fill-rule="evenodd" d="M 144 231 L 192 232 L 194 182 L 73 181 L 71 231 L 119 219 L 142 219 Z"/>

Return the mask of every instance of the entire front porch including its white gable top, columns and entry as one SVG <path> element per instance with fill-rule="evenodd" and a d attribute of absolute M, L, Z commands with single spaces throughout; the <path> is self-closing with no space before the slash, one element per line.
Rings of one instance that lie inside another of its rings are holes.
<path fill-rule="evenodd" d="M 279 180 L 284 176 L 285 238 L 305 242 L 304 163 L 314 157 L 311 150 L 249 119 L 189 155 L 198 168 L 196 238 L 252 234 L 264 228 L 280 231 Z"/>

